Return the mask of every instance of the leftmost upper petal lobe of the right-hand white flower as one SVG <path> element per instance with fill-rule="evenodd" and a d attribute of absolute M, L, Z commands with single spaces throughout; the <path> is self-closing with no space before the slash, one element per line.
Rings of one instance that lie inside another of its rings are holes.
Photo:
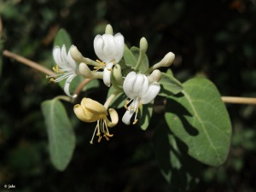
<path fill-rule="evenodd" d="M 125 81 L 123 84 L 123 90 L 125 91 L 125 95 L 131 99 L 135 97 L 133 94 L 133 85 L 135 84 L 136 79 L 137 79 L 137 74 L 135 72 L 130 72 L 125 77 Z"/>

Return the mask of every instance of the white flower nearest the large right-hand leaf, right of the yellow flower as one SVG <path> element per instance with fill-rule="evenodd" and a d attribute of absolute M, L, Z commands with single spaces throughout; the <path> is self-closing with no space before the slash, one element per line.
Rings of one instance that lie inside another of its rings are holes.
<path fill-rule="evenodd" d="M 144 74 L 137 74 L 135 72 L 128 73 L 125 78 L 123 89 L 126 96 L 131 100 L 125 102 L 125 108 L 127 109 L 122 121 L 126 125 L 130 125 L 131 117 L 136 113 L 133 124 L 137 123 L 138 108 L 154 100 L 155 96 L 160 91 L 160 85 L 157 82 L 149 84 L 148 78 Z M 127 107 L 127 105 L 129 107 Z"/>

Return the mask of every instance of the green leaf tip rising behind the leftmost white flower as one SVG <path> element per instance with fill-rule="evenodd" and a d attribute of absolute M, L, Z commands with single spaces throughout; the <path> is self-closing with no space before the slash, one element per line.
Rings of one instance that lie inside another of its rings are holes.
<path fill-rule="evenodd" d="M 63 44 L 66 45 L 66 49 L 68 50 L 72 45 L 72 40 L 67 31 L 61 28 L 55 36 L 54 46 L 62 47 Z"/>

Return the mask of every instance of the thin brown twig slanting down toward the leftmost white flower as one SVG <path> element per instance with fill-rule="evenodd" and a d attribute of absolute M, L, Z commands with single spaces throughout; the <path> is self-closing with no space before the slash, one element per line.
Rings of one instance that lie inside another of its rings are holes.
<path fill-rule="evenodd" d="M 25 64 L 26 66 L 37 69 L 38 71 L 45 73 L 49 76 L 55 76 L 55 73 L 53 71 L 49 70 L 48 68 L 46 68 L 34 61 L 28 60 L 23 56 L 16 55 L 15 53 L 10 52 L 9 50 L 3 50 L 3 55 L 8 56 L 9 58 L 13 58 L 16 61 L 20 61 L 22 64 Z"/>

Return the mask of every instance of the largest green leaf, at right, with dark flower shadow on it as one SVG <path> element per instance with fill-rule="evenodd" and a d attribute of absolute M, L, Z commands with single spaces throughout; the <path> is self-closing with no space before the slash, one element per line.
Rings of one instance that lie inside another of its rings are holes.
<path fill-rule="evenodd" d="M 207 165 L 224 163 L 230 149 L 230 118 L 217 88 L 207 79 L 183 84 L 179 96 L 166 103 L 166 122 L 188 147 L 189 154 Z"/>

